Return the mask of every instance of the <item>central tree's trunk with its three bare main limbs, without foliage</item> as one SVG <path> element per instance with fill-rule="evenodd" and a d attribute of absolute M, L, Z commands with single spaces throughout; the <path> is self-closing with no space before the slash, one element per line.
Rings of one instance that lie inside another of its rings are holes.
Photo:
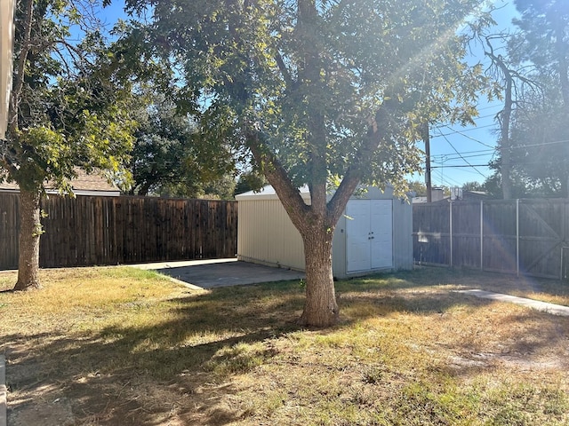
<path fill-rule="evenodd" d="M 326 138 L 326 116 L 325 108 L 322 106 L 325 82 L 322 53 L 318 45 L 319 40 L 325 35 L 320 33 L 317 8 L 315 0 L 298 2 L 295 31 L 301 42 L 299 55 L 304 60 L 297 70 L 296 82 L 287 74 L 283 59 L 276 58 L 276 62 L 280 62 L 279 67 L 284 72 L 284 81 L 289 85 L 287 89 L 293 93 L 292 96 L 305 99 L 307 114 L 305 138 L 309 145 L 309 158 L 306 164 L 306 182 L 310 190 L 309 205 L 302 200 L 298 188 L 293 185 L 283 163 L 269 148 L 263 133 L 256 130 L 256 123 L 247 122 L 244 134 L 247 146 L 251 149 L 256 162 L 261 166 L 268 182 L 275 188 L 284 209 L 302 236 L 305 253 L 306 301 L 299 322 L 304 326 L 331 327 L 336 324 L 340 316 L 332 272 L 333 231 L 349 197 L 362 178 L 363 170 L 372 161 L 373 152 L 381 140 L 391 133 L 390 129 L 397 126 L 393 114 L 394 106 L 398 106 L 398 100 L 386 100 L 376 112 L 365 140 L 357 150 L 356 158 L 343 174 L 341 184 L 332 199 L 328 201 L 329 175 L 326 151 L 330 142 Z"/>

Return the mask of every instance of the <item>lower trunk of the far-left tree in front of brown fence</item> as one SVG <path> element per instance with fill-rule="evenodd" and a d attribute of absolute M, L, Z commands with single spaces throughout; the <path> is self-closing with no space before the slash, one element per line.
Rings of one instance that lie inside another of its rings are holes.
<path fill-rule="evenodd" d="M 42 234 L 40 199 L 40 193 L 20 192 L 20 257 L 18 259 L 18 281 L 14 290 L 41 287 L 38 275 L 39 237 Z"/>

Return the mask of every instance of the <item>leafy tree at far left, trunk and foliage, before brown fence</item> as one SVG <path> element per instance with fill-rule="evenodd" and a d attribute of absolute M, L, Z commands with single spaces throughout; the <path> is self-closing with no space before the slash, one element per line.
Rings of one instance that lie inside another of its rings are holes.
<path fill-rule="evenodd" d="M 92 11 L 68 0 L 16 4 L 9 125 L 0 179 L 20 186 L 20 258 L 14 289 L 40 286 L 40 199 L 50 181 L 70 192 L 74 169 L 116 171 L 132 146 L 130 87 Z M 75 43 L 82 37 L 80 43 Z"/>

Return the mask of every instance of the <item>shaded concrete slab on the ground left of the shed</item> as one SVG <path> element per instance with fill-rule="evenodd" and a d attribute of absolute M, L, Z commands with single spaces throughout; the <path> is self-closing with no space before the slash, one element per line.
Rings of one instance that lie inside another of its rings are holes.
<path fill-rule="evenodd" d="M 153 270 L 169 275 L 198 288 L 240 286 L 270 281 L 301 280 L 304 272 L 284 268 L 272 268 L 262 264 L 230 259 L 191 260 L 185 262 L 164 262 L 130 265 L 140 269 Z"/>

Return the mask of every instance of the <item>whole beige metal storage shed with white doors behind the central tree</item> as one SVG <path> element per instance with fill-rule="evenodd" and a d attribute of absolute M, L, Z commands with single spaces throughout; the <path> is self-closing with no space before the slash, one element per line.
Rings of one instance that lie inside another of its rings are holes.
<path fill-rule="evenodd" d="M 301 196 L 309 203 L 308 187 Z M 259 193 L 236 196 L 237 258 L 304 271 L 301 234 L 294 227 L 268 185 Z M 387 187 L 353 196 L 336 226 L 333 238 L 333 275 L 343 279 L 381 270 L 413 268 L 413 207 L 394 197 Z"/>

